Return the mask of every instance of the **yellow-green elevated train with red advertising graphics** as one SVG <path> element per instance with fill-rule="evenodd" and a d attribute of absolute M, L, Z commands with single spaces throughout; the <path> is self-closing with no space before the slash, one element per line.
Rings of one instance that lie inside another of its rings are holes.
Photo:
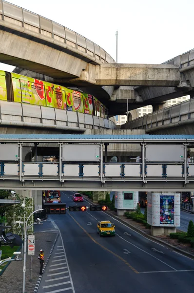
<path fill-rule="evenodd" d="M 77 111 L 108 119 L 108 109 L 92 95 L 1 70 L 0 100 Z"/>

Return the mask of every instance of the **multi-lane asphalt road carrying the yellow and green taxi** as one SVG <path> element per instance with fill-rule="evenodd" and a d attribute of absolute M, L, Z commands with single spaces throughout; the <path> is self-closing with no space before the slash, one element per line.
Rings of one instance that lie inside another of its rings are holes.
<path fill-rule="evenodd" d="M 61 193 L 67 207 L 76 205 L 72 191 Z M 114 222 L 116 237 L 99 237 L 99 220 Z M 145 238 L 103 211 L 67 211 L 50 216 L 50 221 L 62 237 L 53 255 L 62 256 L 49 261 L 39 293 L 163 293 L 167 288 L 193 292 L 194 260 Z M 67 276 L 51 273 L 63 266 Z"/>

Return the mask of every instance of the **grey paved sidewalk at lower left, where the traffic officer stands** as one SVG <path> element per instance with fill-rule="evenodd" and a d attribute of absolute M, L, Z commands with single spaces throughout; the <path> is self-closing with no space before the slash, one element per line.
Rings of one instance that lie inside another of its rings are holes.
<path fill-rule="evenodd" d="M 33 293 L 39 278 L 39 250 L 44 250 L 46 260 L 55 241 L 56 232 L 35 232 L 35 255 L 32 256 L 32 281 L 30 280 L 30 256 L 26 257 L 26 293 Z M 13 261 L 0 277 L 0 293 L 21 293 L 23 280 L 23 261 Z"/>

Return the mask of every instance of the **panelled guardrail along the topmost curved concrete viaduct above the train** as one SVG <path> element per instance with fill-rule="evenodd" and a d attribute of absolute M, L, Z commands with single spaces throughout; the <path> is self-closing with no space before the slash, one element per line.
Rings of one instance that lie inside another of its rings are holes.
<path fill-rule="evenodd" d="M 61 42 L 61 44 L 67 44 L 69 48 L 72 47 L 72 51 L 77 54 L 79 52 L 80 55 L 85 54 L 85 57 L 92 59 L 96 64 L 115 63 L 114 59 L 104 49 L 73 30 L 2 0 L 0 0 L 0 21 L 24 27 L 32 33 L 39 34 L 40 38 L 43 35 L 59 43 Z"/>

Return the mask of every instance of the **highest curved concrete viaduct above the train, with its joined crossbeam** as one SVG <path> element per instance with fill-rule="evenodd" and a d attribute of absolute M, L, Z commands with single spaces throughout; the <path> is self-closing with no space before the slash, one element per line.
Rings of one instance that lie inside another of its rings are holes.
<path fill-rule="evenodd" d="M 79 87 L 108 106 L 111 116 L 126 112 L 126 99 L 119 86 L 188 86 L 178 63 L 116 64 L 94 42 L 3 0 L 0 39 L 0 62 L 36 72 L 37 78 Z M 134 88 L 126 91 L 129 110 L 149 103 Z"/>

